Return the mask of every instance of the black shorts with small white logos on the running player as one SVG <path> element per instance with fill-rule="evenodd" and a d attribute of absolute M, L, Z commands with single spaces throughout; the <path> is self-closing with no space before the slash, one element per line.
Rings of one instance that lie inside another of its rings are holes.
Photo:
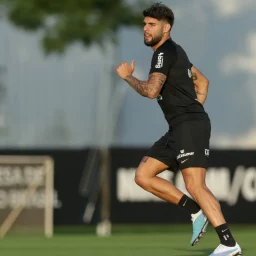
<path fill-rule="evenodd" d="M 208 168 L 210 120 L 189 120 L 170 129 L 146 154 L 171 171 L 188 167 Z"/>

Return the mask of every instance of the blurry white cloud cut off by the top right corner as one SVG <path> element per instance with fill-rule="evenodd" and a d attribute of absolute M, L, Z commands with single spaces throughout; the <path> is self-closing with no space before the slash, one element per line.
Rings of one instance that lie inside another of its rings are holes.
<path fill-rule="evenodd" d="M 216 8 L 218 16 L 221 18 L 228 18 L 244 10 L 256 8 L 255 0 L 211 0 L 211 4 Z"/>

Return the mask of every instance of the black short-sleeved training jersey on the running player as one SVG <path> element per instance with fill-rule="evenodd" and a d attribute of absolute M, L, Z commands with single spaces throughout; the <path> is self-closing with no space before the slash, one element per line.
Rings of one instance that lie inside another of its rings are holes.
<path fill-rule="evenodd" d="M 197 117 L 208 118 L 203 105 L 197 101 L 191 67 L 186 52 L 171 39 L 153 54 L 150 73 L 167 76 L 157 101 L 169 125 Z"/>

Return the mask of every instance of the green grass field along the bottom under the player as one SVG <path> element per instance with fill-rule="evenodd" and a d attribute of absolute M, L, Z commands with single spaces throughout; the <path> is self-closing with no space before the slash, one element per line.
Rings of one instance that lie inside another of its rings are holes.
<path fill-rule="evenodd" d="M 231 225 L 246 256 L 256 256 L 256 225 Z M 108 238 L 92 229 L 56 229 L 51 239 L 6 237 L 0 240 L 3 256 L 202 256 L 209 255 L 219 241 L 209 227 L 203 240 L 189 245 L 191 226 L 114 226 Z"/>

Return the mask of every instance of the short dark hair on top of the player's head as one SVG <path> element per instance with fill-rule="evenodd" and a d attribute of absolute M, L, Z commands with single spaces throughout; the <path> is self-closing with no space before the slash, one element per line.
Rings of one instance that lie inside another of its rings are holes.
<path fill-rule="evenodd" d="M 171 27 L 174 24 L 174 13 L 173 11 L 162 3 L 155 3 L 148 9 L 143 11 L 144 17 L 151 17 L 157 20 L 165 20 Z"/>

